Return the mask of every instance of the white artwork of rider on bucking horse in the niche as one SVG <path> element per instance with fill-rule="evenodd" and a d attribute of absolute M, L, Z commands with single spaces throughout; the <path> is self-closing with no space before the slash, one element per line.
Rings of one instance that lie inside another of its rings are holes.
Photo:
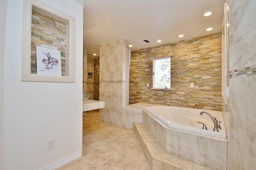
<path fill-rule="evenodd" d="M 60 51 L 36 46 L 37 74 L 61 76 Z"/>

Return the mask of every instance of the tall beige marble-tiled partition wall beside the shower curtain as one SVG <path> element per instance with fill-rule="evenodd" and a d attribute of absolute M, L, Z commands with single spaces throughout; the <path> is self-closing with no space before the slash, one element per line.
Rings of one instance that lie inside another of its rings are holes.
<path fill-rule="evenodd" d="M 100 46 L 99 100 L 105 102 L 100 120 L 132 128 L 133 113 L 124 109 L 126 41 L 119 39 Z M 104 115 L 103 115 L 104 113 Z M 101 117 L 102 116 L 102 117 Z"/>

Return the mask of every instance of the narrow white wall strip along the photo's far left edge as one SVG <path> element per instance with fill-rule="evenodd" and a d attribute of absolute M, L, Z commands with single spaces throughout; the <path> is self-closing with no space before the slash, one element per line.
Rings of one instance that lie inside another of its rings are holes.
<path fill-rule="evenodd" d="M 7 0 L 0 2 L 0 170 L 4 169 L 4 41 Z"/>

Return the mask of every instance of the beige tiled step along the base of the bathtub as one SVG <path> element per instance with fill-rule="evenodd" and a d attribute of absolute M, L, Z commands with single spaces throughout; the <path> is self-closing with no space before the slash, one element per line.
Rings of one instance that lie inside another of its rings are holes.
<path fill-rule="evenodd" d="M 134 122 L 133 129 L 151 169 L 210 170 L 209 168 L 195 164 L 194 162 L 167 154 L 142 123 Z"/>

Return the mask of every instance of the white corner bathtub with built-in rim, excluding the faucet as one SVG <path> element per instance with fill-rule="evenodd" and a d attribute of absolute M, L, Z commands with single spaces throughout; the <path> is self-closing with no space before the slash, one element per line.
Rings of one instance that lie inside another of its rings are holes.
<path fill-rule="evenodd" d="M 161 105 L 154 105 L 151 107 L 146 107 L 145 109 L 168 127 L 226 139 L 226 130 L 222 112 L 220 111 L 207 111 L 201 109 Z M 199 114 L 202 111 L 207 111 L 207 113 L 209 113 L 212 117 L 217 118 L 220 126 L 222 127 L 221 129 L 218 129 L 218 132 L 213 131 L 214 123 L 206 113 L 203 115 Z M 197 122 L 204 123 L 208 130 L 202 129 L 203 125 Z"/>

